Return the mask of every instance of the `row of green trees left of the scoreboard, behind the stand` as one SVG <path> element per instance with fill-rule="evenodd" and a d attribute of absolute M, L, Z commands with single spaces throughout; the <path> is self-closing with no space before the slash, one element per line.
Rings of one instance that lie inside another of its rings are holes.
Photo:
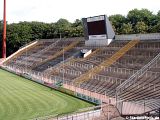
<path fill-rule="evenodd" d="M 2 40 L 2 21 L 0 23 L 0 45 Z M 17 51 L 24 44 L 35 39 L 83 36 L 81 20 L 74 23 L 59 19 L 56 23 L 20 22 L 7 24 L 7 56 Z"/>

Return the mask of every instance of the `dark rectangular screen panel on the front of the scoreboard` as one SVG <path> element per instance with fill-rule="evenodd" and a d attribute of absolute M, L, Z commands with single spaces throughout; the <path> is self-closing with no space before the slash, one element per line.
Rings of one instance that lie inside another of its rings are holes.
<path fill-rule="evenodd" d="M 105 20 L 87 22 L 88 35 L 106 34 Z"/>

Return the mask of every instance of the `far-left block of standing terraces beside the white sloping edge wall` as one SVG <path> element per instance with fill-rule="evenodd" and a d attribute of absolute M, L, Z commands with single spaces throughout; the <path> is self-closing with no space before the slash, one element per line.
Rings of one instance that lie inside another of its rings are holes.
<path fill-rule="evenodd" d="M 18 56 L 14 55 L 15 59 L 10 59 L 6 63 L 6 65 L 14 66 L 17 69 L 24 69 L 24 68 L 27 69 L 31 64 L 41 60 L 42 59 L 41 54 L 39 53 L 42 53 L 42 51 L 44 51 L 47 47 L 50 47 L 50 45 L 54 44 L 56 41 L 57 39 L 38 40 L 36 46 L 30 49 L 23 50 L 22 54 Z M 12 57 L 12 55 L 9 56 L 8 58 L 10 57 Z"/>

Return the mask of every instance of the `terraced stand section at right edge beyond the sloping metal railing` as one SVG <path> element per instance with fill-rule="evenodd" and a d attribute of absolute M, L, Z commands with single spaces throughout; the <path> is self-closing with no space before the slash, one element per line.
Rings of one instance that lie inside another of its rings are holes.
<path fill-rule="evenodd" d="M 123 104 L 132 102 L 144 105 L 140 112 L 156 110 L 160 107 L 160 53 L 148 64 L 138 70 L 129 79 L 116 88 L 117 99 L 122 99 Z M 157 72 L 156 72 L 157 70 Z M 127 101 L 127 102 L 126 102 Z M 128 108 L 129 104 L 125 104 Z M 119 108 L 121 109 L 121 108 Z M 123 110 L 124 112 L 125 110 Z M 133 114 L 133 111 L 125 111 L 125 114 Z"/>

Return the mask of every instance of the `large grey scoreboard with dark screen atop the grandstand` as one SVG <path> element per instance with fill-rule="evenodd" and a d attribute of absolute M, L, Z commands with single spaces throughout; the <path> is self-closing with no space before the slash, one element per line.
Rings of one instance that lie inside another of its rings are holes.
<path fill-rule="evenodd" d="M 82 21 L 85 38 L 88 40 L 112 39 L 115 35 L 106 15 L 83 18 Z"/>

